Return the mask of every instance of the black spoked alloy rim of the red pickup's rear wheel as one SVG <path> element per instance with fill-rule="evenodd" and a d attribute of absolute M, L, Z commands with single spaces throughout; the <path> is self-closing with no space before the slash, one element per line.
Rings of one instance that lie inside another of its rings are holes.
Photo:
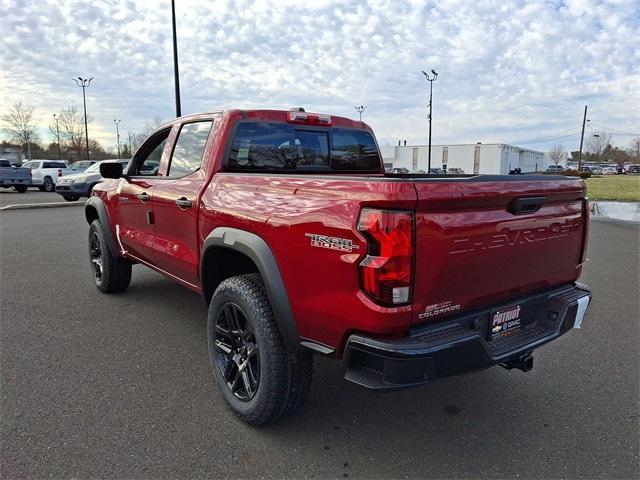
<path fill-rule="evenodd" d="M 214 344 L 216 363 L 231 393 L 250 401 L 260 383 L 260 355 L 251 322 L 235 303 L 226 303 L 218 313 Z"/>

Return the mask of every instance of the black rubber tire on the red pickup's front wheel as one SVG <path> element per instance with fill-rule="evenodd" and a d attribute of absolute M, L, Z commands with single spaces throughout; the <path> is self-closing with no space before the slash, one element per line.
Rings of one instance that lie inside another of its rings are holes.
<path fill-rule="evenodd" d="M 94 243 L 92 242 L 97 243 L 100 249 L 99 275 L 94 263 Z M 89 259 L 93 282 L 98 290 L 103 293 L 117 293 L 127 289 L 131 282 L 131 262 L 110 250 L 100 220 L 94 220 L 89 227 Z"/>

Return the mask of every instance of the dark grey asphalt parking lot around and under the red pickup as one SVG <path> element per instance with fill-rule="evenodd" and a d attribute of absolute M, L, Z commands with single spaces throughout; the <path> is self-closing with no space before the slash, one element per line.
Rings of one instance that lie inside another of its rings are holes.
<path fill-rule="evenodd" d="M 3 478 L 638 478 L 639 234 L 592 223 L 583 328 L 494 368 L 373 394 L 317 358 L 258 429 L 215 390 L 196 294 L 143 267 L 91 283 L 82 209 L 0 213 Z"/>

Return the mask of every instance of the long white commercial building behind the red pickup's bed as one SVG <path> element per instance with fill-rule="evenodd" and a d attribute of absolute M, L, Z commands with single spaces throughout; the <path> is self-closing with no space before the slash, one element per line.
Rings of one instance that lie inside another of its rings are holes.
<path fill-rule="evenodd" d="M 387 168 L 428 170 L 426 145 L 380 147 Z M 504 143 L 431 145 L 431 168 L 461 168 L 465 173 L 506 175 L 520 168 L 522 173 L 542 171 L 551 163 L 543 152 Z"/>

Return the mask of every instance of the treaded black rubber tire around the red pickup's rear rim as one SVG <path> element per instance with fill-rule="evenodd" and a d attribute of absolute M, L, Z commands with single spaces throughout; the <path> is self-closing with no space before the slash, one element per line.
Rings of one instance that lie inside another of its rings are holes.
<path fill-rule="evenodd" d="M 259 381 L 254 396 L 239 399 L 229 388 L 217 360 L 216 322 L 225 305 L 241 310 L 251 330 L 259 356 Z M 209 358 L 218 391 L 229 408 L 253 425 L 274 422 L 300 408 L 309 393 L 313 372 L 311 353 L 290 352 L 278 330 L 264 282 L 259 274 L 224 280 L 209 305 L 207 332 Z"/>

